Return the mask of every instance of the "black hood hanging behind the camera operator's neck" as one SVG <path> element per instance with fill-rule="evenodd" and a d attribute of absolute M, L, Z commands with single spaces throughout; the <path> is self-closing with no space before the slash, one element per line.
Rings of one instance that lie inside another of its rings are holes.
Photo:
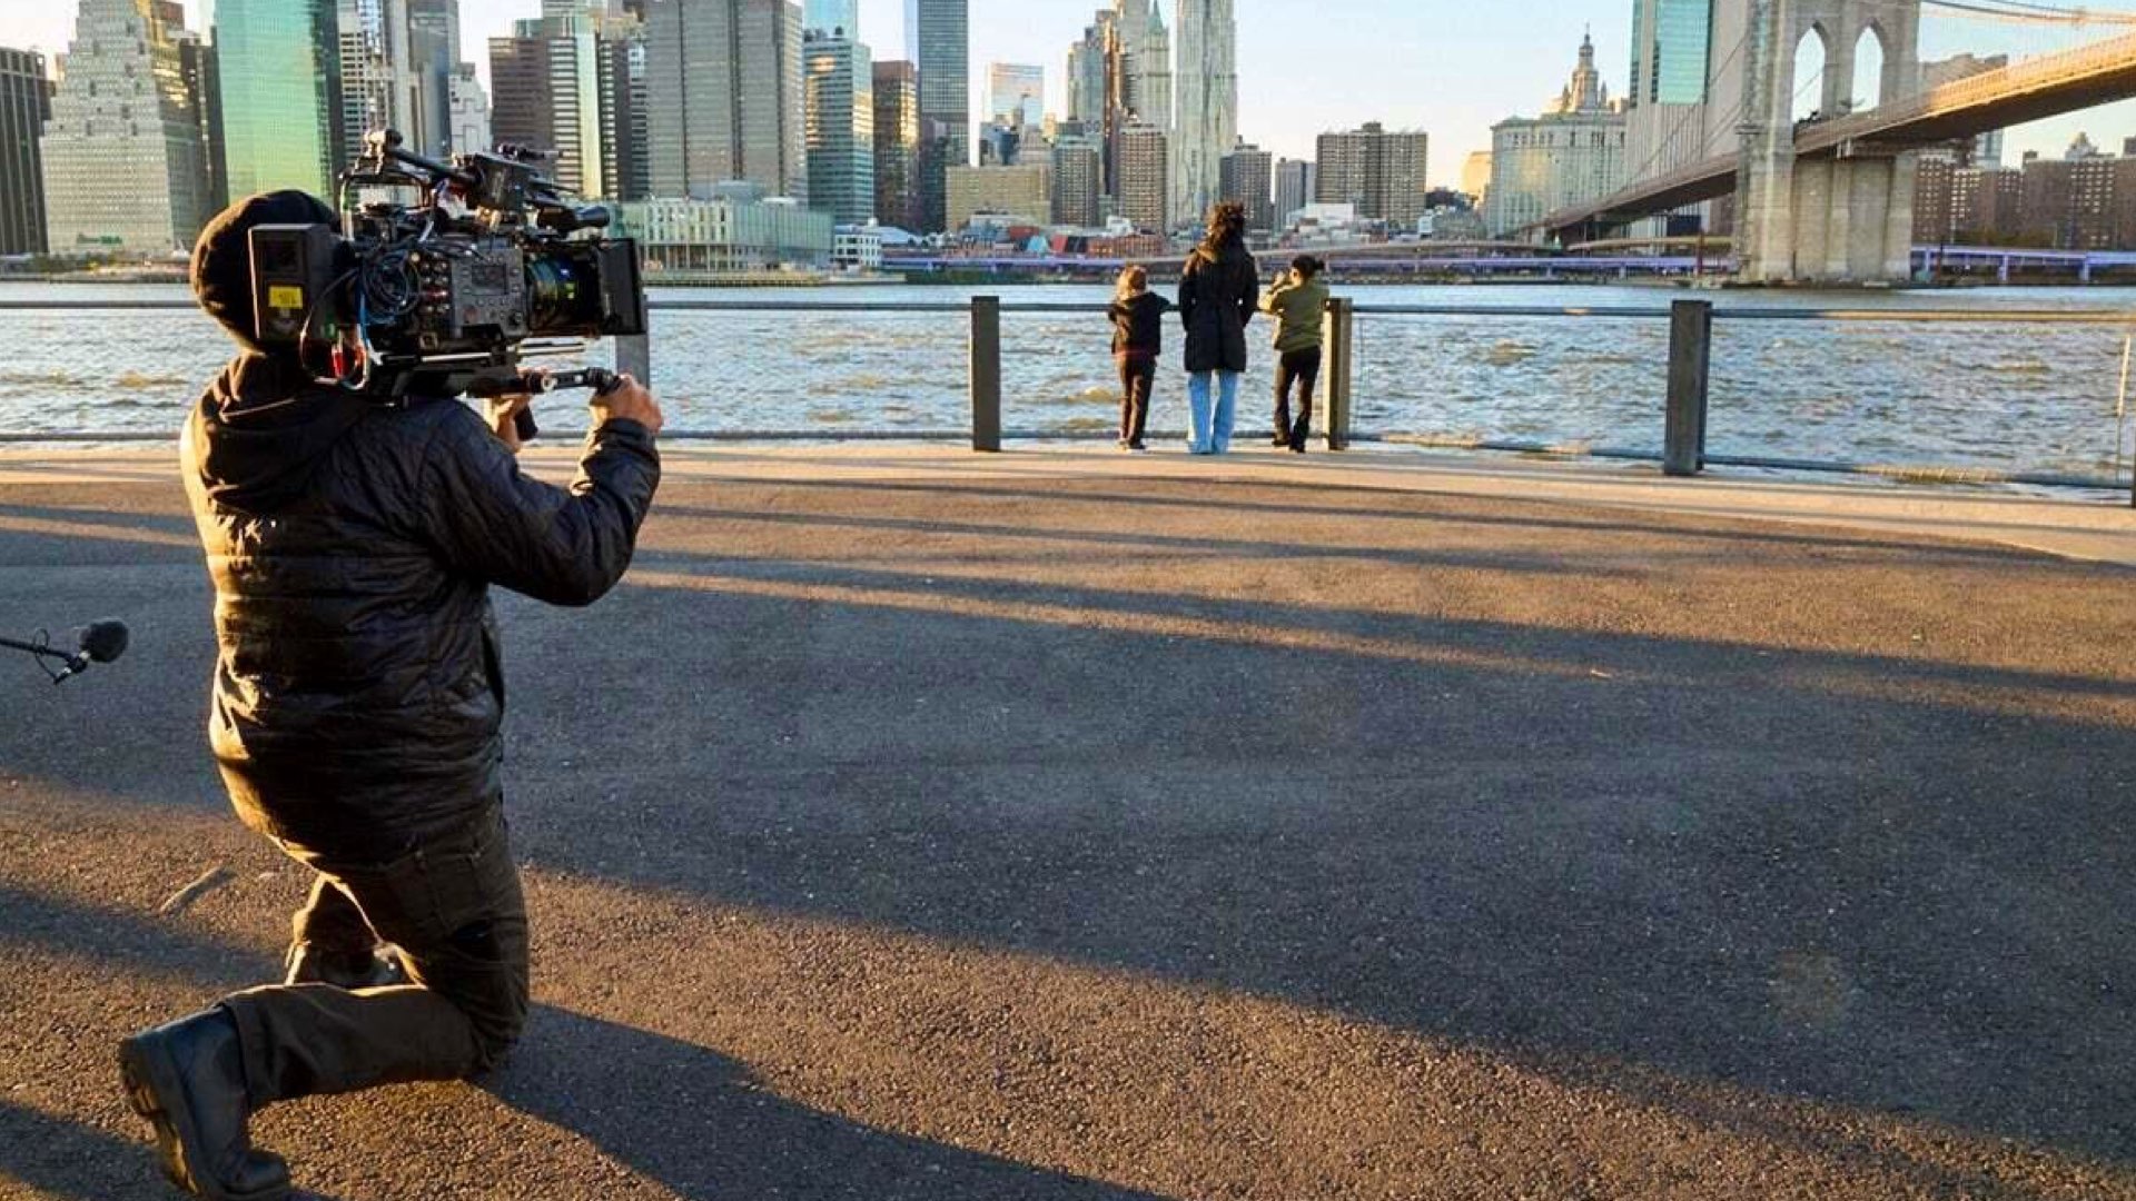
<path fill-rule="evenodd" d="M 370 410 L 361 395 L 314 385 L 290 357 L 239 355 L 192 410 L 192 468 L 216 504 L 280 513 Z"/>

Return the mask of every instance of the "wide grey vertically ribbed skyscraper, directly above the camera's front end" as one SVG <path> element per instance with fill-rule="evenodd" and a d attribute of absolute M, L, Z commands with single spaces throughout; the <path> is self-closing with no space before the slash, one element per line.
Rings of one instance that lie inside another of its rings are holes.
<path fill-rule="evenodd" d="M 647 0 L 645 49 L 656 197 L 748 180 L 807 199 L 799 4 Z"/>

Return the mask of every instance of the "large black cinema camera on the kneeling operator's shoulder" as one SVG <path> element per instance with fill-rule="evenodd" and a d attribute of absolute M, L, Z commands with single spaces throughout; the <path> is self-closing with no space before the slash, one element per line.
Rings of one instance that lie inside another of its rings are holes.
<path fill-rule="evenodd" d="M 545 158 L 500 145 L 449 167 L 402 150 L 393 130 L 372 132 L 342 173 L 342 229 L 252 231 L 261 346 L 295 348 L 323 380 L 393 400 L 517 391 L 525 355 L 643 336 L 637 244 L 602 237 L 609 209 L 572 205 L 543 177 Z M 410 190 L 421 201 L 376 199 Z M 350 192 L 374 199 L 352 207 Z M 607 391 L 613 376 L 572 372 L 549 387 Z"/>

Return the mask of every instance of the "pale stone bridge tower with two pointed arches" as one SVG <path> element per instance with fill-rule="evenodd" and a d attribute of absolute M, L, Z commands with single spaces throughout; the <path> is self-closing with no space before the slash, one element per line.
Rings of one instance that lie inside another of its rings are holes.
<path fill-rule="evenodd" d="M 1884 49 L 1880 98 L 1920 85 L 1920 0 L 1747 0 L 1737 263 L 1745 282 L 1905 280 L 1914 154 L 1873 145 L 1794 156 L 1796 53 L 1824 45 L 1820 111 L 1848 111 L 1865 34 Z"/>

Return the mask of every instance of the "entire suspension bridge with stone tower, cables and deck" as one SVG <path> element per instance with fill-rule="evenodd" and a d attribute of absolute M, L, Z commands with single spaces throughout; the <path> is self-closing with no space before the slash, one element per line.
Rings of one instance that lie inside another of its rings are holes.
<path fill-rule="evenodd" d="M 2051 34 L 2033 53 L 1937 79 L 1925 19 L 1944 41 L 1980 24 Z M 2136 96 L 2136 15 L 2006 0 L 1715 4 L 1702 96 L 1655 105 L 1634 132 L 1634 180 L 1553 212 L 1542 233 L 1593 241 L 1732 197 L 1745 282 L 1905 280 L 1918 156 Z"/>

